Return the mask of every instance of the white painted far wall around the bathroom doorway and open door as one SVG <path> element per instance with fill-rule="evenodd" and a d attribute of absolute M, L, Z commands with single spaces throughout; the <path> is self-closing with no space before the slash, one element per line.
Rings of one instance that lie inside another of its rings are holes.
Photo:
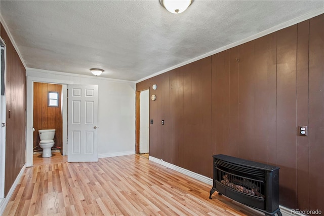
<path fill-rule="evenodd" d="M 89 71 L 90 73 L 90 71 Z M 92 84 L 99 87 L 98 103 L 98 157 L 135 154 L 135 90 L 131 81 L 113 80 L 94 76 L 75 75 L 56 71 L 27 68 L 27 147 L 32 128 L 29 106 L 31 104 L 32 81 L 60 84 Z M 32 109 L 31 109 L 32 110 Z M 32 133 L 31 133 L 32 136 Z M 31 139 L 32 141 L 32 139 Z M 32 143 L 31 143 L 32 145 Z M 26 162 L 32 156 L 26 153 Z M 29 157 L 28 157 L 29 156 Z M 26 163 L 27 166 L 30 164 Z"/>

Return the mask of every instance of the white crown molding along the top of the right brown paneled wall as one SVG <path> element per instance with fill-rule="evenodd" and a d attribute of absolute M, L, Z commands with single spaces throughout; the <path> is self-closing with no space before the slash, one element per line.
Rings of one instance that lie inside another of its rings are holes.
<path fill-rule="evenodd" d="M 216 49 L 216 50 L 213 50 L 213 51 L 211 51 L 211 52 L 205 53 L 205 54 L 203 54 L 203 55 L 200 55 L 200 56 L 198 56 L 198 57 L 192 58 L 192 59 L 190 59 L 190 60 L 188 60 L 188 61 L 185 61 L 185 62 L 182 62 L 182 63 L 180 63 L 180 64 L 174 65 L 174 66 L 169 67 L 169 68 L 167 68 L 167 69 L 164 69 L 164 70 L 158 71 L 158 72 L 155 73 L 155 74 L 152 74 L 152 75 L 150 75 L 150 76 L 147 76 L 147 77 L 145 77 L 145 78 L 142 78 L 142 79 L 136 81 L 136 83 L 142 82 L 142 81 L 144 81 L 144 80 L 147 80 L 147 79 L 149 79 L 149 78 L 155 77 L 155 76 L 160 75 L 160 74 L 164 74 L 164 73 L 166 73 L 166 72 L 168 72 L 168 71 L 170 71 L 170 70 L 173 70 L 173 69 L 176 69 L 176 68 L 178 68 L 178 67 L 181 67 L 181 66 L 187 65 L 187 64 L 189 64 L 189 63 L 192 63 L 192 62 L 194 62 L 194 61 L 197 61 L 197 60 L 200 60 L 200 59 L 203 59 L 203 58 L 209 57 L 209 56 L 214 55 L 214 54 L 216 54 L 216 53 L 220 53 L 220 52 L 222 52 L 222 51 L 225 51 L 225 50 L 228 50 L 228 49 L 230 49 L 230 48 L 236 47 L 236 46 L 238 46 L 238 45 L 241 45 L 241 44 L 244 44 L 244 43 L 247 43 L 247 42 L 253 41 L 253 40 L 258 39 L 258 38 L 261 38 L 261 37 L 263 37 L 263 36 L 265 36 L 265 35 L 267 35 L 267 34 L 270 34 L 270 33 L 273 33 L 273 32 L 275 32 L 275 31 L 278 31 L 278 30 L 281 30 L 281 29 L 287 28 L 287 27 L 289 27 L 289 26 L 292 26 L 292 25 L 295 25 L 295 24 L 300 23 L 300 22 L 302 22 L 302 21 L 305 21 L 305 20 L 307 20 L 307 19 L 310 19 L 310 18 L 316 17 L 316 16 L 318 16 L 318 15 L 320 15 L 320 14 L 323 14 L 323 13 L 324 13 L 324 6 L 321 7 L 321 8 L 318 8 L 318 9 L 316 9 L 316 10 L 314 10 L 314 11 L 311 11 L 311 12 L 309 12 L 309 13 L 307 13 L 307 14 L 304 14 L 304 15 L 302 15 L 302 16 L 299 16 L 299 17 L 296 17 L 296 18 L 294 18 L 294 19 L 292 19 L 292 20 L 289 20 L 289 21 L 287 21 L 287 22 L 283 22 L 283 23 L 281 23 L 281 24 L 278 24 L 278 25 L 276 25 L 276 26 L 273 26 L 273 27 L 271 27 L 271 28 L 269 28 L 269 29 L 267 29 L 267 30 L 261 31 L 261 32 L 259 32 L 259 33 L 254 34 L 254 35 L 251 35 L 251 36 L 248 37 L 248 38 L 242 39 L 242 40 L 240 40 L 240 41 L 237 41 L 237 42 L 234 42 L 234 43 L 232 43 L 232 44 L 226 45 L 226 46 L 221 47 L 221 48 L 219 48 L 219 49 Z"/>

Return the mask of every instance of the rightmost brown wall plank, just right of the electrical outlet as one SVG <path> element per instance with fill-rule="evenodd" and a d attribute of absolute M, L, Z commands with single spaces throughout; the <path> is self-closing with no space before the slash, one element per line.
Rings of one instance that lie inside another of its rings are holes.
<path fill-rule="evenodd" d="M 310 209 L 324 200 L 324 15 L 309 21 L 308 151 Z M 306 115 L 306 114 L 303 114 Z M 306 172 L 307 173 L 307 172 Z M 305 178 L 304 177 L 304 178 Z"/>

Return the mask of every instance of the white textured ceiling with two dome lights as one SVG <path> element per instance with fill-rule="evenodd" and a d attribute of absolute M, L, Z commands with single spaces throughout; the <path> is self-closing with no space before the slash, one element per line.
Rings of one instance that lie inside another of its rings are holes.
<path fill-rule="evenodd" d="M 137 81 L 323 9 L 324 1 L 1 1 L 27 67 Z M 324 13 L 324 9 L 323 9 Z"/>

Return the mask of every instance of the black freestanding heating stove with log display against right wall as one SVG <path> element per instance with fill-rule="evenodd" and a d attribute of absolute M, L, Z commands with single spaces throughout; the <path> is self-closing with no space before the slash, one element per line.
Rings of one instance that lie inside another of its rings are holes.
<path fill-rule="evenodd" d="M 248 161 L 227 155 L 214 155 L 212 194 L 225 196 L 264 212 L 277 213 L 279 209 L 279 167 Z"/>

